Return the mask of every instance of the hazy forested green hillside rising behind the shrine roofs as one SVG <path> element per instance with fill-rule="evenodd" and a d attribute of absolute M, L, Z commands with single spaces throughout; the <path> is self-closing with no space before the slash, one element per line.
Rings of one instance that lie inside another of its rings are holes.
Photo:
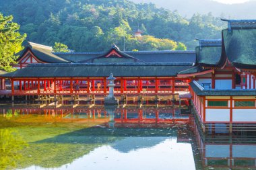
<path fill-rule="evenodd" d="M 195 48 L 195 38 L 220 38 L 226 23 L 195 14 L 126 0 L 1 0 L 0 13 L 13 15 L 27 40 L 53 46 L 67 44 L 76 51 L 102 51 L 112 43 L 123 50 L 183 50 Z M 134 37 L 137 30 L 141 37 Z M 125 36 L 125 38 L 124 38 Z"/>

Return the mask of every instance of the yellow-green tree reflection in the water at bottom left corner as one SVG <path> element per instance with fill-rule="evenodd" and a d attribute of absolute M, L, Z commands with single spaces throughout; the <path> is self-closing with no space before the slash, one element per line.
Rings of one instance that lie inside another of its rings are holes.
<path fill-rule="evenodd" d="M 13 168 L 16 161 L 22 158 L 22 149 L 26 142 L 20 136 L 8 129 L 0 130 L 0 169 Z"/>

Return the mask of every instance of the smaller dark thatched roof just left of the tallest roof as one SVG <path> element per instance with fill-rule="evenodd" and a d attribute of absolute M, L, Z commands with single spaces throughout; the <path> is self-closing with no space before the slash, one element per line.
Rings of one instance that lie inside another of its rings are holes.
<path fill-rule="evenodd" d="M 218 67 L 222 54 L 222 40 L 199 40 L 199 46 L 195 48 L 197 65 L 203 67 Z"/>

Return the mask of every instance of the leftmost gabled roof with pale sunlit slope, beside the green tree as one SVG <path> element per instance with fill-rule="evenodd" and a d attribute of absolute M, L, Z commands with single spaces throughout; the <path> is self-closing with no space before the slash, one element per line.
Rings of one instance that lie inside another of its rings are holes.
<path fill-rule="evenodd" d="M 51 46 L 44 46 L 41 44 L 36 44 L 34 42 L 28 42 L 26 48 L 20 52 L 20 57 L 17 59 L 19 61 L 23 58 L 24 54 L 30 50 L 38 60 L 47 63 L 69 63 L 70 61 L 65 60 L 55 54 L 53 54 L 53 48 Z"/>

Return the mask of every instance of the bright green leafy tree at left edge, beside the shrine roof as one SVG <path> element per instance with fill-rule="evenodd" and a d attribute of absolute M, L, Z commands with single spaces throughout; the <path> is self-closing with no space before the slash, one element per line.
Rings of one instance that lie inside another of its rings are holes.
<path fill-rule="evenodd" d="M 16 54 L 24 48 L 22 42 L 26 38 L 26 34 L 18 32 L 20 26 L 12 20 L 12 15 L 5 17 L 0 13 L 0 69 L 5 71 L 14 70 L 11 64 L 15 63 Z"/>

